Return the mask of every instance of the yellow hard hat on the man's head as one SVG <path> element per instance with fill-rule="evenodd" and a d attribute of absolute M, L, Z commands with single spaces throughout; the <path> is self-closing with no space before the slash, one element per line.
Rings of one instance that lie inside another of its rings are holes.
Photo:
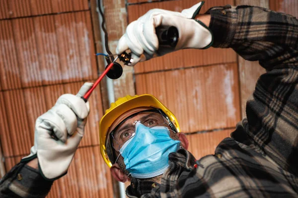
<path fill-rule="evenodd" d="M 100 153 L 106 162 L 106 164 L 111 167 L 112 162 L 110 161 L 107 150 L 106 150 L 106 138 L 109 127 L 112 123 L 123 113 L 133 108 L 142 107 L 142 106 L 150 106 L 161 109 L 171 123 L 175 126 L 176 131 L 180 132 L 180 127 L 177 122 L 175 115 L 164 106 L 158 99 L 149 94 L 144 95 L 135 95 L 135 96 L 126 96 L 117 101 L 111 103 L 109 109 L 105 111 L 104 116 L 101 118 L 99 122 L 99 145 L 100 145 Z"/>

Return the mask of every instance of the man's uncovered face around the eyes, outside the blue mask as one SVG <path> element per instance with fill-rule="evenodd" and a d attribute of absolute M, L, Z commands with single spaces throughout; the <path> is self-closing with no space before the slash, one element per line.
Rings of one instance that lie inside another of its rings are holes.
<path fill-rule="evenodd" d="M 147 108 L 148 110 L 152 108 Z M 112 143 L 113 148 L 115 151 L 116 157 L 119 156 L 120 148 L 123 144 L 128 141 L 130 138 L 134 137 L 135 135 L 135 123 L 136 121 L 140 121 L 143 125 L 147 127 L 154 127 L 154 126 L 164 126 L 167 127 L 170 131 L 170 137 L 173 140 L 179 140 L 178 136 L 174 131 L 172 131 L 171 127 L 168 125 L 168 122 L 159 112 L 146 112 L 146 109 L 142 109 L 145 112 L 138 112 L 136 109 L 133 109 L 131 112 L 127 112 L 125 116 L 122 116 L 120 120 L 116 120 L 116 123 L 113 123 L 113 128 L 116 127 L 115 130 L 112 132 Z M 133 117 L 131 117 L 133 112 Z M 136 114 L 138 112 L 138 114 Z M 136 114 L 136 115 L 134 115 Z M 126 174 L 129 175 L 129 172 L 126 170 L 126 166 L 124 163 L 123 157 L 120 155 L 117 163 L 119 164 L 121 170 Z"/>

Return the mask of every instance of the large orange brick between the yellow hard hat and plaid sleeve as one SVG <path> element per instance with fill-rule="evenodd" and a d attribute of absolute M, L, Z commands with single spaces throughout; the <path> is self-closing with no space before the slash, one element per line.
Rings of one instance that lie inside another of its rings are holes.
<path fill-rule="evenodd" d="M 152 94 L 176 115 L 183 132 L 234 127 L 240 120 L 237 65 L 136 75 L 136 93 Z"/>

